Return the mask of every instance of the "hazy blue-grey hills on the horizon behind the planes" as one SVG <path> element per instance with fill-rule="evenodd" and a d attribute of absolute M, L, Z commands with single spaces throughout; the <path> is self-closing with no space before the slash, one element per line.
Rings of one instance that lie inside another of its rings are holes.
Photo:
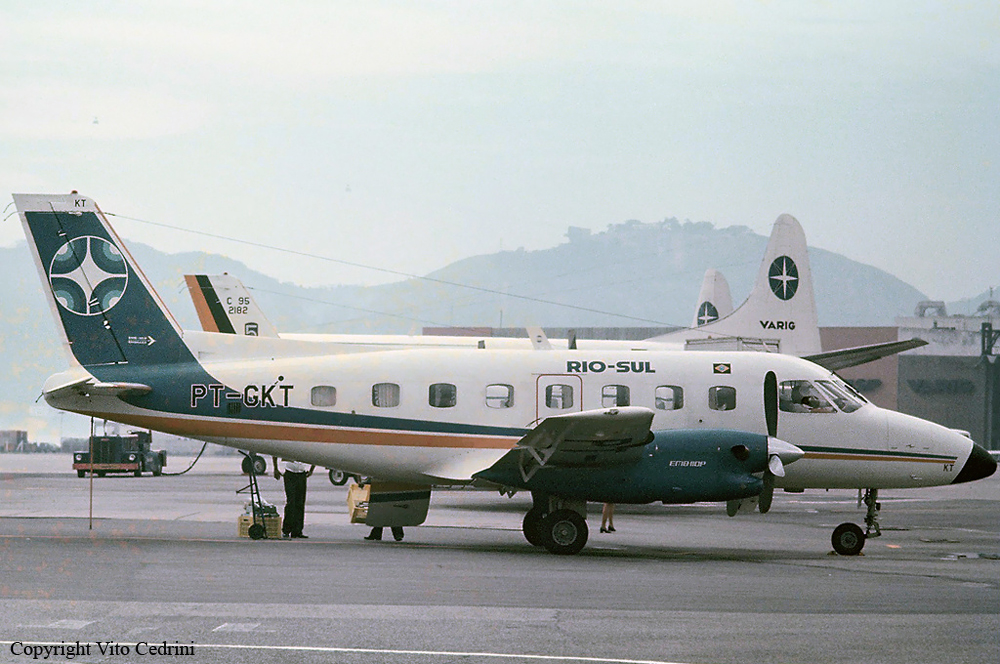
<path fill-rule="evenodd" d="M 599 233 L 570 228 L 567 238 L 549 249 L 466 258 L 429 279 L 325 288 L 281 282 L 223 256 L 129 247 L 185 328 L 199 325 L 182 275 L 229 272 L 253 289 L 283 331 L 419 333 L 438 325 L 688 325 L 705 270 L 720 269 L 739 303 L 767 244 L 766 237 L 743 226 L 676 219 L 628 221 Z M 892 325 L 926 299 L 877 268 L 821 249 L 809 255 L 821 325 Z M 11 286 L 0 301 L 0 429 L 26 428 L 32 440 L 55 441 L 59 416 L 44 402 L 34 402 L 45 378 L 64 368 L 65 360 L 24 245 L 0 248 L 0 277 Z M 75 426 L 64 433 L 79 435 L 79 422 Z"/>

